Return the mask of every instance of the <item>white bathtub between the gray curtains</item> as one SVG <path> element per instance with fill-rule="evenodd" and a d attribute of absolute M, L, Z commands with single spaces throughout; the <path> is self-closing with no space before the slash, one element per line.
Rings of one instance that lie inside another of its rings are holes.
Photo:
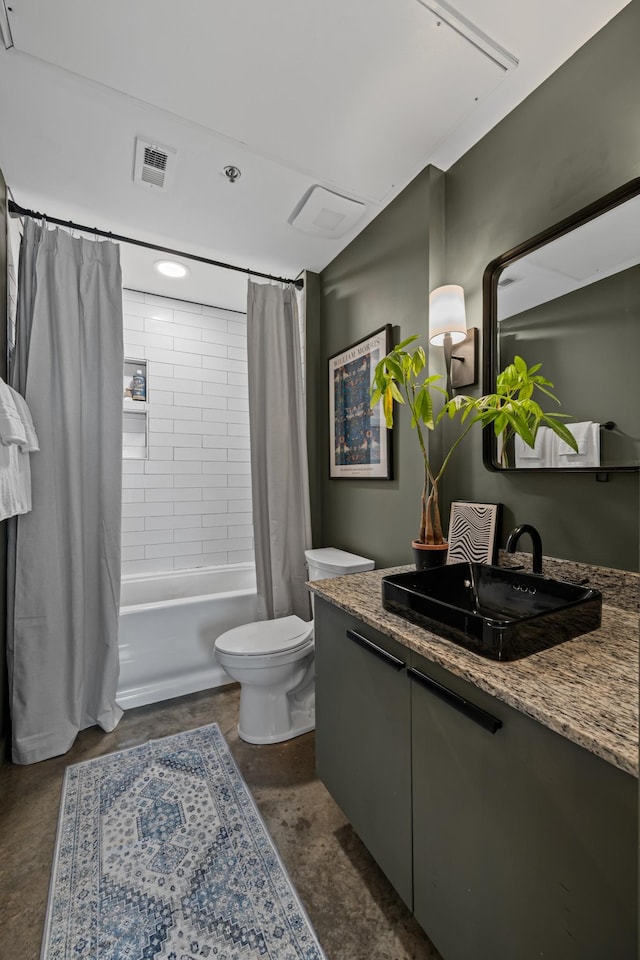
<path fill-rule="evenodd" d="M 213 644 L 256 619 L 253 564 L 123 576 L 117 702 L 127 710 L 229 683 Z"/>

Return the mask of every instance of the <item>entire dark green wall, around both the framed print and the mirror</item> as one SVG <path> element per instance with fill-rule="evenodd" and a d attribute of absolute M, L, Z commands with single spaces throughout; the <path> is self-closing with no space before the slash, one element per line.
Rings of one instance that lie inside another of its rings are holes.
<path fill-rule="evenodd" d="M 398 336 L 424 332 L 428 291 L 445 281 L 463 285 L 467 323 L 482 328 L 482 275 L 490 260 L 638 175 L 639 36 L 640 0 L 633 0 L 447 171 L 446 275 L 429 259 L 431 168 L 323 271 L 315 374 L 325 410 L 332 353 L 386 322 L 399 327 Z M 591 363 L 588 374 L 597 377 L 598 358 Z M 380 565 L 410 561 L 417 522 L 415 438 L 402 416 L 394 432 L 392 483 L 327 479 L 324 437 L 321 447 L 322 542 L 369 553 Z M 638 474 L 597 483 L 593 475 L 491 473 L 478 432 L 457 451 L 444 495 L 504 503 L 505 533 L 533 523 L 548 555 L 638 569 Z"/>

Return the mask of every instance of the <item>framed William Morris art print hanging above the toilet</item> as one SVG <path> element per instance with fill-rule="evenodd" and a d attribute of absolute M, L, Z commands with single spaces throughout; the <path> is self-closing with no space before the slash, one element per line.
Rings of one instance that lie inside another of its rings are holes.
<path fill-rule="evenodd" d="M 382 405 L 370 407 L 376 365 L 391 350 L 391 324 L 329 358 L 330 469 L 333 479 L 391 480 L 391 431 Z"/>

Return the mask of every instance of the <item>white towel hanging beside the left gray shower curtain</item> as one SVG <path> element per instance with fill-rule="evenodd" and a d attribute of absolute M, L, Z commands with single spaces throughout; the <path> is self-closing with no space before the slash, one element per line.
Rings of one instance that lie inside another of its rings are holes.
<path fill-rule="evenodd" d="M 2 430 L 5 432 L 0 432 L 0 520 L 6 520 L 31 510 L 29 454 L 40 447 L 26 400 L 0 378 Z M 5 441 L 5 436 L 11 439 Z"/>

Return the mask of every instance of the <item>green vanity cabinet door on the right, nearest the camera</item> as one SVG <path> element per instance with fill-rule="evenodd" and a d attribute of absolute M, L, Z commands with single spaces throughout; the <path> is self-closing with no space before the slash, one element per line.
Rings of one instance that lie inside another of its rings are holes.
<path fill-rule="evenodd" d="M 637 781 L 417 655 L 409 674 L 414 912 L 446 960 L 637 956 Z"/>

